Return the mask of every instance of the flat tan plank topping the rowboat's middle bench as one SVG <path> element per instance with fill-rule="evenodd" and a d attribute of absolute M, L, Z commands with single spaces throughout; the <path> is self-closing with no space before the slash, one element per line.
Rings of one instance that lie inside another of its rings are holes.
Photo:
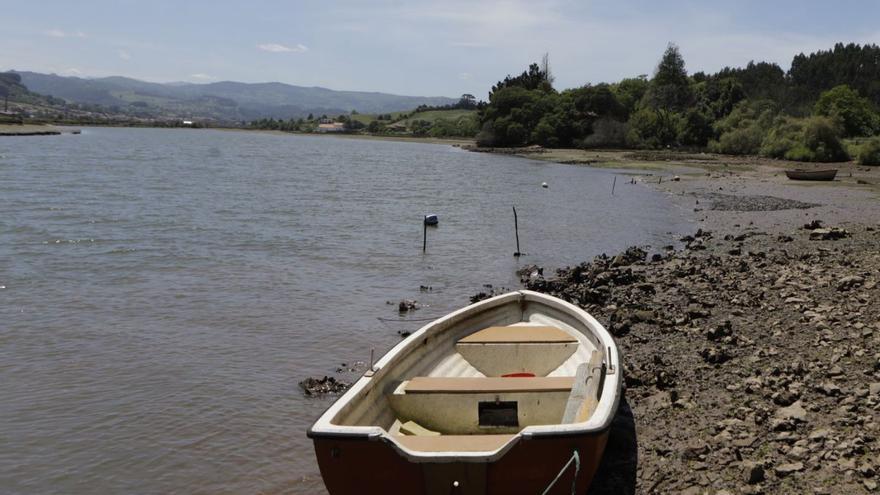
<path fill-rule="evenodd" d="M 540 377 L 427 377 L 411 379 L 404 391 L 417 393 L 501 393 L 571 390 L 573 376 Z"/>

